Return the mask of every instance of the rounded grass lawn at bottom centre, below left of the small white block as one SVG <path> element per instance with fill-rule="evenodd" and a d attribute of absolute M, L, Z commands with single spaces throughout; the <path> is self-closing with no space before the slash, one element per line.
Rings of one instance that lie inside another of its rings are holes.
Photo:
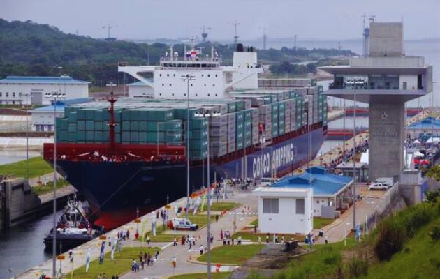
<path fill-rule="evenodd" d="M 263 244 L 219 246 L 211 250 L 211 261 L 214 264 L 243 264 L 260 252 L 263 246 Z M 206 262 L 206 253 L 197 259 L 200 262 Z"/>

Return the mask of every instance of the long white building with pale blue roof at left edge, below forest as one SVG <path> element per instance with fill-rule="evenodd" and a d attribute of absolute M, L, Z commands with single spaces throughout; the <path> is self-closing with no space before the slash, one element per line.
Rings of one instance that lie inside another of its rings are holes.
<path fill-rule="evenodd" d="M 0 80 L 0 105 L 50 105 L 45 93 L 61 92 L 66 99 L 89 97 L 89 84 L 68 75 L 59 77 L 8 76 Z M 26 97 L 28 95 L 28 98 Z"/>

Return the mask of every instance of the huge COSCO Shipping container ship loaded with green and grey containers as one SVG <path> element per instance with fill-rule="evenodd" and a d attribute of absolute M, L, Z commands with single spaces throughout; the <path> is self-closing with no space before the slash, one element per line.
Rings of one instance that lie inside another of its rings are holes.
<path fill-rule="evenodd" d="M 251 47 L 237 45 L 233 66 L 221 66 L 214 48 L 205 56 L 171 48 L 159 66 L 119 71 L 145 90 L 69 105 L 56 119 L 57 171 L 105 229 L 185 197 L 188 158 L 193 192 L 214 176 L 283 176 L 314 158 L 325 140 L 327 100 L 316 80 L 258 79 L 263 66 Z M 53 151 L 45 144 L 50 163 Z"/>

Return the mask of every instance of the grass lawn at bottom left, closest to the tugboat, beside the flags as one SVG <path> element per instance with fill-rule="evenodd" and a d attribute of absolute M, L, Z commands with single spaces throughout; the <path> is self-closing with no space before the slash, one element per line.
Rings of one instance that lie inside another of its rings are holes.
<path fill-rule="evenodd" d="M 150 255 L 154 255 L 156 250 L 160 248 L 122 248 L 122 252 L 115 252 L 115 259 L 110 259 L 110 252 L 105 253 L 103 264 L 99 264 L 99 259 L 94 259 L 90 262 L 89 272 L 85 273 L 85 266 L 81 266 L 73 271 L 73 278 L 95 279 L 98 275 L 105 273 L 107 278 L 112 278 L 112 275 L 121 275 L 122 273 L 131 270 L 131 262 L 133 259 L 139 261 L 138 255 L 140 252 L 149 252 Z M 66 271 L 65 271 L 66 272 Z M 66 272 L 64 278 L 71 278 L 71 273 Z"/>

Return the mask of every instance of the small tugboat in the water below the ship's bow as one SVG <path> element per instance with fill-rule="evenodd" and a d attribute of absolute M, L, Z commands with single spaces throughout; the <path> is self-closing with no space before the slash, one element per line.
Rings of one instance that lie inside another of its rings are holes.
<path fill-rule="evenodd" d="M 68 250 L 86 243 L 98 236 L 86 217 L 87 206 L 84 202 L 69 199 L 63 214 L 57 223 L 57 249 Z M 53 229 L 44 239 L 45 249 L 52 249 Z M 62 248 L 61 248 L 62 247 Z"/>

